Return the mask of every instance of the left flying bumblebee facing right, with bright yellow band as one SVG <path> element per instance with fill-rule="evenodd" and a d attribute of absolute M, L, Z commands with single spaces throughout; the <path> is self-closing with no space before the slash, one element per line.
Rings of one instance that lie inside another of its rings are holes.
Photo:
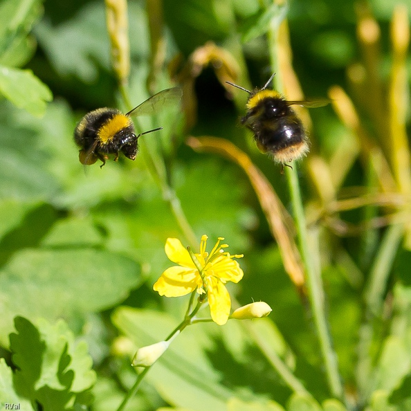
<path fill-rule="evenodd" d="M 152 95 L 125 114 L 118 109 L 107 107 L 87 113 L 74 130 L 75 143 L 80 147 L 80 163 L 91 165 L 100 160 L 101 168 L 109 154 L 114 154 L 114 161 L 117 161 L 120 152 L 134 160 L 138 152 L 138 137 L 161 130 L 163 127 L 136 135 L 131 116 L 152 116 L 162 107 L 179 101 L 181 95 L 181 89 L 174 87 Z"/>

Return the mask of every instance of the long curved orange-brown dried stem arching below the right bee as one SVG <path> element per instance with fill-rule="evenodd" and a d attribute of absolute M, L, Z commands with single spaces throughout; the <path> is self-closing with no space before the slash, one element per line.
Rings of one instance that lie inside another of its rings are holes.
<path fill-rule="evenodd" d="M 286 273 L 291 281 L 302 291 L 304 285 L 304 269 L 301 264 L 300 253 L 295 245 L 293 236 L 286 226 L 286 211 L 280 199 L 268 182 L 264 174 L 255 167 L 250 158 L 230 141 L 216 137 L 190 137 L 187 144 L 192 149 L 201 152 L 214 152 L 237 163 L 246 172 L 251 185 L 257 194 L 259 203 L 268 221 L 271 234 L 277 241 Z"/>

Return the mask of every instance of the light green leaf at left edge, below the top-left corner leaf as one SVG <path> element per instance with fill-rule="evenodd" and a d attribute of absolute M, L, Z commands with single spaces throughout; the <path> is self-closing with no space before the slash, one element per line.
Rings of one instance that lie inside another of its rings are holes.
<path fill-rule="evenodd" d="M 0 93 L 20 109 L 41 117 L 53 94 L 31 70 L 0 66 Z"/>

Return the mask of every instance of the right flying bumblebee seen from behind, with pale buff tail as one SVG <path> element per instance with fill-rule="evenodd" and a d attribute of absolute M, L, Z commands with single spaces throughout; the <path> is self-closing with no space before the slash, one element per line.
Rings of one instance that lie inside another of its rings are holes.
<path fill-rule="evenodd" d="M 226 83 L 249 94 L 246 116 L 241 118 L 241 124 L 253 131 L 261 152 L 270 154 L 274 161 L 284 166 L 309 151 L 306 131 L 291 106 L 322 107 L 329 100 L 288 101 L 277 91 L 267 89 L 274 75 L 262 89 L 254 91 Z"/>

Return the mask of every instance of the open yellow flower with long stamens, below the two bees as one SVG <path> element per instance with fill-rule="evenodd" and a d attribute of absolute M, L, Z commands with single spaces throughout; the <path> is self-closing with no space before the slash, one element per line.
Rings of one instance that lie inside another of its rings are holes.
<path fill-rule="evenodd" d="M 219 237 L 210 253 L 206 252 L 206 235 L 201 237 L 200 253 L 194 258 L 183 247 L 179 239 L 169 238 L 165 243 L 167 257 L 178 266 L 167 268 L 154 284 L 154 291 L 166 297 L 180 297 L 197 289 L 197 293 L 207 293 L 211 318 L 218 325 L 226 324 L 230 316 L 231 300 L 226 282 L 239 282 L 244 273 L 233 258 L 243 255 L 230 255 L 223 250 L 227 244 L 220 244 Z M 197 261 L 194 261 L 197 259 Z"/>

